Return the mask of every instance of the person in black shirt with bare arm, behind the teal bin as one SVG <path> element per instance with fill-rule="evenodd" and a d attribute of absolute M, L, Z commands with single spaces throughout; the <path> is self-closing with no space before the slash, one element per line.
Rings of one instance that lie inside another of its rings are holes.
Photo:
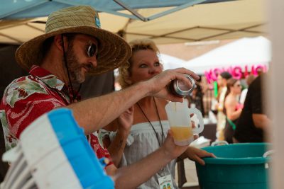
<path fill-rule="evenodd" d="M 266 88 L 263 81 L 269 73 L 264 73 L 253 80 L 249 86 L 244 101 L 244 108 L 236 124 L 234 142 L 266 142 L 265 134 L 269 132 L 271 119 L 266 111 L 266 98 L 263 98 Z"/>

